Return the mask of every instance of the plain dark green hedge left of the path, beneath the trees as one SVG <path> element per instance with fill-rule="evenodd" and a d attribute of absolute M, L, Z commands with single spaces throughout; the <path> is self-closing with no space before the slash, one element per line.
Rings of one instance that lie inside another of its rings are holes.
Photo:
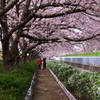
<path fill-rule="evenodd" d="M 0 66 L 0 100 L 24 100 L 37 68 L 37 60 L 5 73 Z"/>

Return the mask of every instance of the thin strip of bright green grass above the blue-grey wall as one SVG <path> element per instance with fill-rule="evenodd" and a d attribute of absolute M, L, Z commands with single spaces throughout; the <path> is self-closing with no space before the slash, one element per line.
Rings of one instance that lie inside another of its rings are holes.
<path fill-rule="evenodd" d="M 65 55 L 63 57 L 82 57 L 82 56 L 100 56 L 100 52 L 90 52 L 90 53 L 82 53 L 82 54 L 72 54 L 72 55 Z"/>

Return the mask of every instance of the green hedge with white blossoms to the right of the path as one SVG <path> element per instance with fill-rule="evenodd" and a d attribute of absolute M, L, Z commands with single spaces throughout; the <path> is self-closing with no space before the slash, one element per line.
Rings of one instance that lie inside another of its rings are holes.
<path fill-rule="evenodd" d="M 84 72 L 63 62 L 50 60 L 47 66 L 77 100 L 100 100 L 100 72 Z"/>

